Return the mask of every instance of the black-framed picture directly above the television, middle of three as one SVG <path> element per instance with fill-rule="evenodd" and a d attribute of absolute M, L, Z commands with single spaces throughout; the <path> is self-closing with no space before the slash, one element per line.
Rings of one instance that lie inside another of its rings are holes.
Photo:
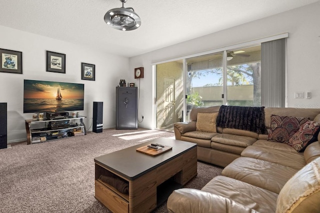
<path fill-rule="evenodd" d="M 46 71 L 65 73 L 65 54 L 46 51 Z"/>

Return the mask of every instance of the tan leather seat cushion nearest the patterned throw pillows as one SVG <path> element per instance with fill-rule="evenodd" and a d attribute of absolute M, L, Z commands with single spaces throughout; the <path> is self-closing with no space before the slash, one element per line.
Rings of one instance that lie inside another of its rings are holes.
<path fill-rule="evenodd" d="M 282 150 L 276 150 L 268 147 L 249 146 L 242 151 L 241 156 L 280 164 L 295 169 L 296 171 L 305 166 L 303 153 L 296 151 L 283 152 Z"/>

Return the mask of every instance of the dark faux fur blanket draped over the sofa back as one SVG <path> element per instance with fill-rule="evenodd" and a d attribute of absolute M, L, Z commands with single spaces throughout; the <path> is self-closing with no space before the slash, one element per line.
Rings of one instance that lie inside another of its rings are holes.
<path fill-rule="evenodd" d="M 267 134 L 264 126 L 264 107 L 222 105 L 216 118 L 216 126 Z"/>

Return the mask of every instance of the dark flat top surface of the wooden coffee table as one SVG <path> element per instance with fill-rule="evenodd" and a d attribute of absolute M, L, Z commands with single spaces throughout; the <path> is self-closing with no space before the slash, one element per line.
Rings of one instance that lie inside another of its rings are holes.
<path fill-rule="evenodd" d="M 137 148 L 151 143 L 171 146 L 172 150 L 158 156 L 150 156 L 136 151 Z M 128 180 L 134 180 L 194 147 L 196 147 L 195 143 L 169 138 L 157 138 L 149 142 L 96 157 L 94 158 L 94 162 Z"/>

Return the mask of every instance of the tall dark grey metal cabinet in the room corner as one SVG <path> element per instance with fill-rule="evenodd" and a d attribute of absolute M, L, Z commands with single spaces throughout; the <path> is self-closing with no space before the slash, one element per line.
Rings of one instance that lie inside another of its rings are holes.
<path fill-rule="evenodd" d="M 115 129 L 137 129 L 137 107 L 137 87 L 116 87 Z"/>

